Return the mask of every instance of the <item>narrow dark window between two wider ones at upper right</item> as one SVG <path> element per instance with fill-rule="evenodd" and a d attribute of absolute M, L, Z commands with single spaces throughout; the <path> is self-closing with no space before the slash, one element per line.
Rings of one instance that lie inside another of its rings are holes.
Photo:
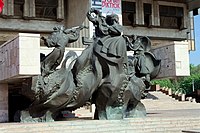
<path fill-rule="evenodd" d="M 151 19 L 152 8 L 151 8 L 151 4 L 144 3 L 143 7 L 144 7 L 144 25 L 149 27 L 152 24 L 152 19 Z"/>

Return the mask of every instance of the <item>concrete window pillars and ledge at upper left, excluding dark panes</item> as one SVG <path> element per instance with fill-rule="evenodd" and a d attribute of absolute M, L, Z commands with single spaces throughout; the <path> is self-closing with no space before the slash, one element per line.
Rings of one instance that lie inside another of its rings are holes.
<path fill-rule="evenodd" d="M 1 31 L 50 32 L 54 26 L 64 24 L 65 9 L 63 9 L 63 0 L 58 0 L 57 18 L 55 20 L 36 17 L 34 0 L 25 0 L 22 16 L 14 14 L 13 0 L 5 0 L 4 4 L 2 16 L 0 17 Z"/>

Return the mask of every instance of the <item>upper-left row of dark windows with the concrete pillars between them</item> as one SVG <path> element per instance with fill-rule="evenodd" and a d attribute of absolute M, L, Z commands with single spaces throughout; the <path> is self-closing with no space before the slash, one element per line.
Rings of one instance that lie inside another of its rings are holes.
<path fill-rule="evenodd" d="M 64 0 L 4 0 L 0 17 L 64 20 Z"/>

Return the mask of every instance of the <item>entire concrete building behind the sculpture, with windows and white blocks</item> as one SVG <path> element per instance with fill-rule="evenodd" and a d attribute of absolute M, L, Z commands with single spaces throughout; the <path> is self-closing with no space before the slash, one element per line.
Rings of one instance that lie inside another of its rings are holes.
<path fill-rule="evenodd" d="M 199 14 L 198 0 L 4 0 L 0 14 L 1 122 L 14 121 L 17 110 L 24 108 L 21 105 L 28 104 L 20 90 L 29 77 L 39 74 L 39 53 L 51 51 L 43 46 L 40 37 L 48 36 L 55 26 L 82 24 L 90 30 L 82 30 L 81 36 L 92 37 L 92 24 L 86 19 L 90 7 L 104 15 L 117 13 L 123 34 L 152 40 L 156 56 L 163 60 L 160 78 L 189 74 L 188 56 L 189 50 L 195 50 L 193 15 Z M 81 39 L 66 48 L 71 49 L 81 52 Z"/>

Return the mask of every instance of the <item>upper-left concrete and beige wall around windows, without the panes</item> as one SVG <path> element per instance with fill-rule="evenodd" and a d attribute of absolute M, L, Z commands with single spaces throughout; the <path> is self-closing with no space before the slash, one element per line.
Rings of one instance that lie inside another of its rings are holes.
<path fill-rule="evenodd" d="M 81 24 L 87 25 L 85 15 L 89 9 L 89 0 L 58 0 L 57 18 L 49 20 L 35 16 L 34 0 L 25 0 L 23 16 L 15 16 L 14 1 L 4 0 L 4 9 L 0 15 L 0 45 L 14 38 L 18 33 L 39 33 L 48 36 L 56 26 L 71 28 Z M 81 32 L 81 36 L 88 36 L 89 31 Z M 83 47 L 81 40 L 71 45 Z"/>

